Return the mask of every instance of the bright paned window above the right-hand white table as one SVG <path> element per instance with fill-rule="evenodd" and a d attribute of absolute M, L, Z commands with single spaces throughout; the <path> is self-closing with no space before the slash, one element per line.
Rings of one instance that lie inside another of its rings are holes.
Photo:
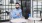
<path fill-rule="evenodd" d="M 36 18 L 40 18 L 40 11 L 42 11 L 42 2 L 33 1 L 33 17 L 35 16 Z M 34 13 L 34 12 L 36 12 L 36 13 Z"/>

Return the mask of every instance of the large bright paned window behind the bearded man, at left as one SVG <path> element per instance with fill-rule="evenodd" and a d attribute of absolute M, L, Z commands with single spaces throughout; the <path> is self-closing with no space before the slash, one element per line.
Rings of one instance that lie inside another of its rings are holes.
<path fill-rule="evenodd" d="M 1 2 L 1 0 L 0 0 Z M 1 2 L 2 3 L 2 2 Z M 12 3 L 12 4 L 11 4 Z M 9 20 L 9 13 L 12 9 L 15 8 L 15 3 L 12 0 L 11 2 L 9 0 L 3 0 L 3 3 L 0 4 L 0 20 Z M 8 12 L 8 13 L 7 13 Z"/>

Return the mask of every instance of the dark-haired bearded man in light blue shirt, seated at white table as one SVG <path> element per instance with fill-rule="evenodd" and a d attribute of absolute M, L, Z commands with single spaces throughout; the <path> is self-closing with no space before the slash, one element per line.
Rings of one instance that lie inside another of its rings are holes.
<path fill-rule="evenodd" d="M 22 10 L 20 9 L 20 4 L 16 3 L 16 9 L 10 12 L 11 19 L 21 18 L 22 17 Z"/>

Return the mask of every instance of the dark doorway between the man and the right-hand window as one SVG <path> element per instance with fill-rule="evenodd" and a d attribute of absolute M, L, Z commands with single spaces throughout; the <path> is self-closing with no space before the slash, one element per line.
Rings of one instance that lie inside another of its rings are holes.
<path fill-rule="evenodd" d="M 31 13 L 31 0 L 21 0 L 21 9 L 24 17 L 28 12 Z"/>

